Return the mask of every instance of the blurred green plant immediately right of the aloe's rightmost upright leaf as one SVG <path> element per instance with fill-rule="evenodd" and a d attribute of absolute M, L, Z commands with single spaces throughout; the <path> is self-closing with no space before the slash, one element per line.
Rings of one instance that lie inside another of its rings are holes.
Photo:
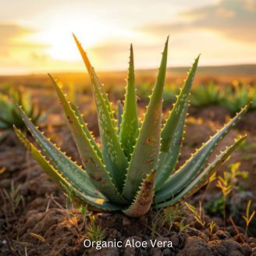
<path fill-rule="evenodd" d="M 224 94 L 217 84 L 199 84 L 192 91 L 191 105 L 195 107 L 219 105 L 223 98 Z"/>

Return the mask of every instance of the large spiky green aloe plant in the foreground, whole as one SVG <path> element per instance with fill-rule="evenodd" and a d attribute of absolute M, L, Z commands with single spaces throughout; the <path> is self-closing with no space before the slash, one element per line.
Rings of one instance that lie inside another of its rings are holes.
<path fill-rule="evenodd" d="M 219 140 L 228 133 L 244 115 L 244 107 L 207 143 L 197 149 L 187 162 L 176 170 L 183 140 L 184 123 L 189 105 L 190 87 L 197 69 L 195 59 L 187 80 L 162 126 L 162 95 L 165 85 L 168 39 L 162 53 L 162 62 L 152 91 L 147 112 L 140 124 L 137 115 L 137 100 L 133 67 L 133 48 L 130 47 L 130 66 L 126 85 L 124 109 L 119 113 L 119 122 L 114 118 L 112 105 L 108 101 L 86 52 L 74 36 L 76 45 L 84 59 L 91 77 L 91 89 L 98 112 L 101 146 L 87 129 L 78 108 L 67 100 L 57 81 L 52 79 L 59 96 L 69 128 L 84 167 L 76 165 L 55 144 L 30 122 L 20 108 L 24 123 L 33 134 L 39 151 L 34 144 L 16 129 L 16 134 L 45 172 L 60 186 L 69 188 L 80 200 L 101 211 L 122 211 L 131 217 L 146 214 L 151 207 L 162 208 L 176 204 L 193 194 L 207 183 L 208 177 L 222 165 L 232 151 L 246 136 L 239 137 L 204 167 Z M 45 158 L 47 157 L 47 158 Z"/>

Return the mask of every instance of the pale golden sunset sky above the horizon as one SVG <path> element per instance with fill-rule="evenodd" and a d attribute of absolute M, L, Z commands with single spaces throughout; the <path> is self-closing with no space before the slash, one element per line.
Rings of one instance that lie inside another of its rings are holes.
<path fill-rule="evenodd" d="M 84 70 L 72 33 L 98 70 L 256 63 L 255 0 L 1 0 L 0 74 Z"/>

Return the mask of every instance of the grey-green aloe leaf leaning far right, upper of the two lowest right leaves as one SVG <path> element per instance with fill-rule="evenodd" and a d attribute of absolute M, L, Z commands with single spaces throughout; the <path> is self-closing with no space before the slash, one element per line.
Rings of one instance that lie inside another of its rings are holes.
<path fill-rule="evenodd" d="M 178 193 L 186 187 L 191 180 L 194 180 L 194 177 L 200 172 L 202 166 L 219 143 L 219 140 L 222 140 L 226 133 L 244 116 L 249 106 L 250 105 L 246 105 L 242 108 L 229 123 L 222 127 L 222 130 L 219 130 L 207 143 L 203 144 L 177 172 L 169 176 L 169 179 L 166 180 L 162 188 L 158 190 L 158 193 L 155 195 L 156 201 L 164 201 L 172 197 L 173 194 Z M 169 190 L 166 190 L 166 188 L 169 188 Z"/>

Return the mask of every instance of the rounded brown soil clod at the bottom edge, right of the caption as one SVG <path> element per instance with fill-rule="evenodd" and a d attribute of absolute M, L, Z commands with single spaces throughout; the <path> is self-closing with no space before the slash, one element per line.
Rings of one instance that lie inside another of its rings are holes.
<path fill-rule="evenodd" d="M 179 252 L 179 256 L 213 256 L 208 244 L 201 238 L 192 236 L 186 241 L 185 247 Z"/>

